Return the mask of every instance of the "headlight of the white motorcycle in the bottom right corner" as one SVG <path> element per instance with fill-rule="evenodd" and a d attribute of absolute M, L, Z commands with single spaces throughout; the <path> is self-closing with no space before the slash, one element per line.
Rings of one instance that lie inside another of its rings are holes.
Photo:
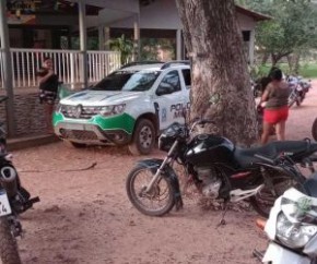
<path fill-rule="evenodd" d="M 277 220 L 277 237 L 284 245 L 303 248 L 315 235 L 317 227 L 304 223 L 292 223 L 284 213 L 280 213 Z"/>

